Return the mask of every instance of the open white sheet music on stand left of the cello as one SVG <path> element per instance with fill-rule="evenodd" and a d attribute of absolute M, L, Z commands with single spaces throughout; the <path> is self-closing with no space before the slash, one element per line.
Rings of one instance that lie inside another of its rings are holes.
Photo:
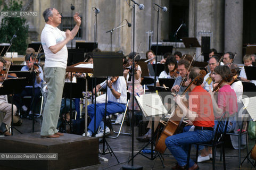
<path fill-rule="evenodd" d="M 141 106 L 144 116 L 155 116 L 167 114 L 167 109 L 163 106 L 162 100 L 158 94 L 145 94 L 135 96 L 137 103 Z"/>

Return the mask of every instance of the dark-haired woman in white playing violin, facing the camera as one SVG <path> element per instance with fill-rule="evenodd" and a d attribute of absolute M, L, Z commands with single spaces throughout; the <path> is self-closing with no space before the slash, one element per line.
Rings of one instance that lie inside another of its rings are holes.
<path fill-rule="evenodd" d="M 158 78 L 177 78 L 179 73 L 177 71 L 177 61 L 174 56 L 169 56 L 166 58 L 166 63 L 164 63 L 164 71 L 162 71 Z M 156 86 L 160 86 L 159 80 L 156 80 Z"/>

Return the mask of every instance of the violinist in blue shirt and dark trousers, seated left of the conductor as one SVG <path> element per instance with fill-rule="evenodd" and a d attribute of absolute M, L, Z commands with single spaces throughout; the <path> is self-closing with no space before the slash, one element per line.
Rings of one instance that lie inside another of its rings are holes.
<path fill-rule="evenodd" d="M 33 55 L 30 56 L 30 54 L 27 54 L 25 57 L 25 61 L 26 61 L 26 66 L 23 66 L 21 68 L 21 71 L 31 71 L 34 67 L 34 62 L 35 59 L 33 58 Z M 42 83 L 44 81 L 44 73 L 42 68 L 39 65 L 36 65 L 35 67 L 38 67 L 38 69 L 35 70 L 36 72 L 36 80 L 35 80 L 35 95 L 34 95 L 34 104 L 36 106 L 37 102 L 39 101 L 39 97 L 41 95 L 41 90 L 40 88 L 42 87 Z M 32 96 L 33 93 L 33 87 L 32 86 L 26 86 L 25 89 L 21 92 L 21 94 L 18 95 L 14 95 L 14 104 L 17 106 L 17 108 L 19 109 L 23 109 L 24 112 L 31 114 L 32 111 L 32 99 L 30 100 L 30 108 L 27 108 L 23 101 L 22 98 L 24 96 Z M 30 112 L 28 112 L 30 111 Z M 24 115 L 26 116 L 26 114 Z M 31 118 L 31 115 L 30 115 Z"/>

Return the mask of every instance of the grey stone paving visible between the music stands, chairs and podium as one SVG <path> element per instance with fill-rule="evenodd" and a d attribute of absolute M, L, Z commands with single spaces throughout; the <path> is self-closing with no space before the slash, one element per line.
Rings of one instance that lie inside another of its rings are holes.
<path fill-rule="evenodd" d="M 42 124 L 42 118 L 36 118 L 35 122 L 35 132 L 40 131 Z M 22 133 L 31 133 L 32 132 L 32 121 L 28 120 L 27 118 L 23 118 L 23 124 L 21 126 L 15 126 L 19 131 Z M 114 128 L 117 128 L 114 125 Z M 125 124 L 124 130 L 126 132 L 130 132 L 130 127 Z M 18 131 L 14 130 L 14 135 L 19 134 Z M 144 147 L 147 143 L 138 142 L 136 140 L 138 134 L 138 128 L 135 127 L 135 140 L 134 140 L 134 153 L 136 154 L 142 147 Z M 111 135 L 114 135 L 111 132 Z M 80 169 L 121 169 L 124 165 L 131 165 L 128 164 L 127 161 L 131 158 L 131 137 L 129 135 L 120 135 L 117 139 L 110 139 L 107 138 L 106 141 L 109 143 L 111 149 L 114 151 L 114 154 L 117 156 L 120 164 L 118 164 L 117 159 L 110 154 L 101 155 L 100 157 L 105 157 L 108 159 L 107 162 L 100 160 L 100 164 L 89 166 L 89 167 L 81 167 Z M 255 141 L 249 141 L 249 151 L 254 146 Z M 100 149 L 102 151 L 102 143 L 100 143 Z M 219 161 L 220 149 L 217 150 L 217 159 L 216 159 L 216 169 L 223 169 L 222 162 Z M 225 154 L 226 154 L 226 168 L 227 169 L 254 169 L 250 163 L 246 161 L 243 163 L 242 168 L 238 168 L 238 150 L 235 150 L 231 147 L 227 140 L 227 146 L 225 147 Z M 246 156 L 246 149 L 242 150 L 242 159 Z M 146 154 L 146 156 L 150 157 L 150 154 Z M 150 160 L 142 155 L 137 155 L 134 158 L 134 165 L 143 166 L 143 169 L 171 169 L 172 166 L 175 165 L 176 160 L 170 154 L 169 150 L 162 155 L 164 157 L 163 164 L 165 168 L 163 168 L 161 160 L 159 158 Z M 195 149 L 192 149 L 192 159 L 195 157 Z M 86 160 L 85 160 L 86 161 Z M 212 162 L 209 160 L 204 163 L 199 163 L 200 169 L 212 169 Z"/>

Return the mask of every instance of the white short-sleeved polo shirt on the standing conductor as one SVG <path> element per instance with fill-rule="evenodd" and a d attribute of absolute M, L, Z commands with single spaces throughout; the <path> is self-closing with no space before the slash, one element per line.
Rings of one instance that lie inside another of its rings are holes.
<path fill-rule="evenodd" d="M 66 38 L 65 32 L 59 30 L 57 27 L 45 24 L 45 27 L 41 33 L 41 43 L 45 53 L 45 67 L 67 67 L 68 60 L 68 49 L 67 46 L 64 47 L 53 54 L 49 47 L 54 46 Z"/>

